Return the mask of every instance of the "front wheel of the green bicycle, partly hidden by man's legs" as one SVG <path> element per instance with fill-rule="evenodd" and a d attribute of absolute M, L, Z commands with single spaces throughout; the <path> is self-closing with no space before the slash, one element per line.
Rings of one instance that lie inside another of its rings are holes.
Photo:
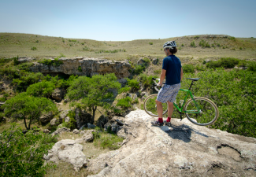
<path fill-rule="evenodd" d="M 157 104 L 155 102 L 157 98 L 158 98 L 158 94 L 151 94 L 144 101 L 144 110 L 150 116 L 158 116 Z M 168 112 L 167 102 L 162 103 L 162 106 L 163 106 L 163 115 L 165 115 L 166 112 Z"/>

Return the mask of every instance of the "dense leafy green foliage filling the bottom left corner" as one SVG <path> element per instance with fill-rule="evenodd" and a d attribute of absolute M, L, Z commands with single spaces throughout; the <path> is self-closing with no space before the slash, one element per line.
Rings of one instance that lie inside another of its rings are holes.
<path fill-rule="evenodd" d="M 43 165 L 43 155 L 48 152 L 56 136 L 43 132 L 22 133 L 15 124 L 0 136 L 0 176 L 43 176 L 49 164 Z"/>

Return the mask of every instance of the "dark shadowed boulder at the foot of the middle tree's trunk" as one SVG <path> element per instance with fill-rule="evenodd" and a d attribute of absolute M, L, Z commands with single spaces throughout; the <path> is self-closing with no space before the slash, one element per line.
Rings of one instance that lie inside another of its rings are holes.
<path fill-rule="evenodd" d="M 84 124 L 93 124 L 94 119 L 91 114 L 87 113 L 85 110 L 81 110 L 80 108 L 76 108 L 75 111 L 77 128 L 82 127 Z"/>

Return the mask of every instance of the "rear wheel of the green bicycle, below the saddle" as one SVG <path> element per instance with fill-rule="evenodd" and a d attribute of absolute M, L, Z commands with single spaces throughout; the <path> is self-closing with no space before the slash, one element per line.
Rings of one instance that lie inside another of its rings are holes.
<path fill-rule="evenodd" d="M 213 124 L 219 116 L 217 105 L 208 98 L 195 97 L 189 99 L 184 105 L 184 111 L 187 119 L 193 124 L 206 126 Z M 198 111 L 199 109 L 199 111 Z"/>

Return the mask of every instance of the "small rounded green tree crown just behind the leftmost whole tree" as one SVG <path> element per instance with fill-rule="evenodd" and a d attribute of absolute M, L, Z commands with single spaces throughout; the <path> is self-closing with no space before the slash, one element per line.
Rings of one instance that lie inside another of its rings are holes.
<path fill-rule="evenodd" d="M 54 92 L 55 85 L 53 82 L 40 82 L 30 85 L 27 89 L 27 93 L 34 97 L 50 98 Z"/>

